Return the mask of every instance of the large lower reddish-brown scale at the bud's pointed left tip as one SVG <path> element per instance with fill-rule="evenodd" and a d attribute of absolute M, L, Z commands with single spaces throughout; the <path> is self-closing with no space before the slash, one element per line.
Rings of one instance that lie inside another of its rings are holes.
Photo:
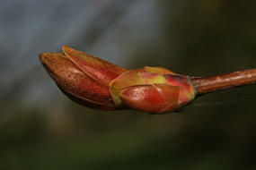
<path fill-rule="evenodd" d="M 66 96 L 84 106 L 112 110 L 116 106 L 107 85 L 99 84 L 61 53 L 40 54 L 40 61 Z"/>

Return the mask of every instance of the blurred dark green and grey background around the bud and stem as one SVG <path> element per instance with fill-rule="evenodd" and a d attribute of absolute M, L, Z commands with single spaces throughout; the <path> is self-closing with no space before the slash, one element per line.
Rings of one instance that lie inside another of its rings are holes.
<path fill-rule="evenodd" d="M 66 44 L 127 68 L 202 76 L 256 67 L 256 2 L 0 3 L 0 169 L 255 169 L 256 86 L 168 115 L 104 112 L 64 96 L 38 54 Z"/>

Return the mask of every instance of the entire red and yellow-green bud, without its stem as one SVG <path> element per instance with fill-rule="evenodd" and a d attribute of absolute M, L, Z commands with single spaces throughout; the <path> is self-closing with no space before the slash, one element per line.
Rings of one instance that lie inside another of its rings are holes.
<path fill-rule="evenodd" d="M 98 109 L 128 106 L 148 113 L 166 113 L 195 98 L 190 79 L 161 67 L 128 71 L 71 47 L 40 54 L 57 86 L 75 102 Z"/>

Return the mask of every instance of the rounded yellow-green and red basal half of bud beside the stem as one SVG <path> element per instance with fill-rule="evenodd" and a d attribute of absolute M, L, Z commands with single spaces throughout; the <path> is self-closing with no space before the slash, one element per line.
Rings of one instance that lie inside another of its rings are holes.
<path fill-rule="evenodd" d="M 174 111 L 195 98 L 189 79 L 159 67 L 120 74 L 110 82 L 110 93 L 117 106 L 148 113 Z"/>

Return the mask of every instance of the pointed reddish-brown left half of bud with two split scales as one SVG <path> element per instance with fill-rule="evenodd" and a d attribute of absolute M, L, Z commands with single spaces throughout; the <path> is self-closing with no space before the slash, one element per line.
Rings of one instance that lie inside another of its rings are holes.
<path fill-rule="evenodd" d="M 41 64 L 68 98 L 98 109 L 113 110 L 117 106 L 110 96 L 109 82 L 126 72 L 117 65 L 70 47 L 62 53 L 40 54 Z"/>

